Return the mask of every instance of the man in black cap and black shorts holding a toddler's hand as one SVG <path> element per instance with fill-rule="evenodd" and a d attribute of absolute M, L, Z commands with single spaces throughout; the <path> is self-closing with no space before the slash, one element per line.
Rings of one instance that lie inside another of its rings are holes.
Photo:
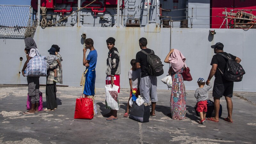
<path fill-rule="evenodd" d="M 211 46 L 214 50 L 215 55 L 212 57 L 211 65 L 212 69 L 210 71 L 209 77 L 206 81 L 206 84 L 209 85 L 210 80 L 212 76 L 215 76 L 213 90 L 212 90 L 212 96 L 214 100 L 214 111 L 215 116 L 207 118 L 207 120 L 213 121 L 213 122 L 219 122 L 219 110 L 220 110 L 220 98 L 222 96 L 225 97 L 227 101 L 227 108 L 228 108 L 228 117 L 224 118 L 225 121 L 233 123 L 232 120 L 232 109 L 233 109 L 233 103 L 232 103 L 232 96 L 233 96 L 233 86 L 234 82 L 228 81 L 225 78 L 222 77 L 220 70 L 224 71 L 226 66 L 226 59 L 219 55 L 218 53 L 222 53 L 224 55 L 228 55 L 226 52 L 223 52 L 224 45 L 222 43 L 216 43 L 215 45 Z M 231 59 L 235 60 L 236 62 L 240 63 L 241 59 L 239 59 L 236 56 L 233 56 L 230 54 Z"/>

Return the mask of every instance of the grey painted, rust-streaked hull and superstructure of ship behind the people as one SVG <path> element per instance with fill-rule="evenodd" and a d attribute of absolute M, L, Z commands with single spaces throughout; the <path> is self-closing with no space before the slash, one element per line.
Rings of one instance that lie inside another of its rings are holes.
<path fill-rule="evenodd" d="M 234 84 L 234 91 L 256 92 L 254 76 L 256 68 L 253 66 L 256 63 L 254 59 L 256 30 L 210 28 L 210 0 L 205 0 L 203 3 L 200 0 L 180 0 L 176 5 L 169 0 L 151 0 L 149 6 L 148 2 L 143 0 L 124 0 L 124 5 L 122 1 L 117 1 L 117 5 L 121 7 L 110 6 L 106 7 L 105 11 L 98 9 L 98 12 L 93 12 L 92 8 L 84 8 L 75 12 L 83 7 L 84 2 L 78 0 L 77 4 L 72 5 L 71 12 L 62 12 L 62 9 L 70 10 L 68 3 L 55 4 L 57 7 L 54 10 L 58 12 L 47 9 L 47 22 L 62 21 L 53 26 L 49 24 L 45 28 L 39 25 L 34 35 L 41 55 L 48 55 L 47 50 L 52 44 L 60 46 L 59 53 L 63 58 L 63 85 L 80 86 L 80 78 L 85 70 L 82 63 L 84 38 L 81 35 L 86 34 L 86 38 L 94 40 L 94 47 L 98 52 L 96 87 L 103 88 L 105 85 L 108 53 L 106 39 L 108 37 L 116 39 L 115 46 L 121 57 L 121 88 L 129 88 L 130 60 L 140 51 L 139 38 L 145 37 L 148 39 L 147 47 L 154 50 L 162 61 L 171 48 L 180 50 L 186 57 L 186 64 L 191 69 L 193 77 L 192 81 L 185 81 L 186 90 L 196 90 L 196 79 L 208 77 L 214 55 L 210 46 L 221 42 L 224 44 L 225 52 L 232 53 L 242 60 L 241 64 L 246 71 L 243 81 Z M 84 6 L 87 4 L 84 3 Z M 177 6 L 177 10 L 174 10 L 174 6 Z M 72 14 L 73 12 L 75 13 Z M 35 14 L 35 11 L 33 13 Z M 70 14 L 72 15 L 67 17 Z M 36 15 L 32 15 L 33 17 L 36 19 Z M 41 16 L 40 21 L 42 19 Z M 174 21 L 170 22 L 170 19 Z M 180 28 L 184 23 L 185 28 Z M 216 34 L 209 34 L 209 30 L 215 30 Z M 0 84 L 27 84 L 26 77 L 19 73 L 26 60 L 23 39 L 24 36 L 0 34 Z M 161 82 L 161 79 L 168 74 L 168 69 L 169 65 L 164 64 L 164 74 L 157 77 L 158 89 L 168 89 Z M 212 83 L 213 80 L 214 78 Z M 45 83 L 46 78 L 40 77 L 40 84 Z"/>

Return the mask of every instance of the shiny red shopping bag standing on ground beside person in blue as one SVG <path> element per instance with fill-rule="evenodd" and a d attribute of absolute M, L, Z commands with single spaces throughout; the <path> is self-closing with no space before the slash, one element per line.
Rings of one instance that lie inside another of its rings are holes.
<path fill-rule="evenodd" d="M 92 119 L 93 118 L 93 102 L 81 94 L 80 98 L 76 99 L 76 109 L 74 118 L 77 119 Z"/>

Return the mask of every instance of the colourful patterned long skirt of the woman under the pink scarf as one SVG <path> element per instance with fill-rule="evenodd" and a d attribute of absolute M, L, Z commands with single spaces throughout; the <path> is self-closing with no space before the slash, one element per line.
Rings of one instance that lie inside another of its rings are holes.
<path fill-rule="evenodd" d="M 172 119 L 181 120 L 186 118 L 186 90 L 183 83 L 183 68 L 172 73 L 171 113 Z"/>

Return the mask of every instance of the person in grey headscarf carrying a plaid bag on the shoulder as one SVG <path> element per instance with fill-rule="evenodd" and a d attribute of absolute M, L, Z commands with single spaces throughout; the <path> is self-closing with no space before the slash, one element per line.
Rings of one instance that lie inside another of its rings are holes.
<path fill-rule="evenodd" d="M 22 75 L 24 74 L 25 68 L 27 68 L 28 61 L 34 58 L 35 56 L 40 56 L 40 52 L 36 47 L 36 43 L 33 38 L 27 37 L 24 39 L 25 41 L 25 53 L 27 56 L 27 61 L 24 63 L 22 68 Z M 32 115 L 35 112 L 38 112 L 38 102 L 40 100 L 39 97 L 39 76 L 27 76 L 28 81 L 28 95 L 31 98 L 31 107 L 30 110 L 24 112 L 24 115 Z"/>

